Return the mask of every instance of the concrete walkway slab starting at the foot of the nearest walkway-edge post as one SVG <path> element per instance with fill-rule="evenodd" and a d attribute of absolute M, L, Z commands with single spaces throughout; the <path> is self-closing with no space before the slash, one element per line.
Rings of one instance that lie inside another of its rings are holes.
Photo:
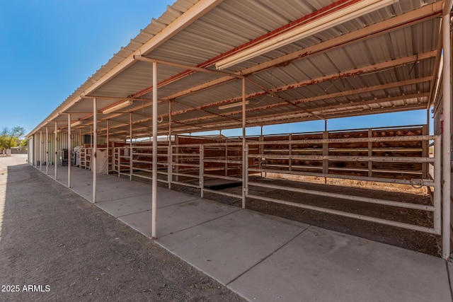
<path fill-rule="evenodd" d="M 241 209 L 156 242 L 221 284 L 229 284 L 307 227 Z"/>

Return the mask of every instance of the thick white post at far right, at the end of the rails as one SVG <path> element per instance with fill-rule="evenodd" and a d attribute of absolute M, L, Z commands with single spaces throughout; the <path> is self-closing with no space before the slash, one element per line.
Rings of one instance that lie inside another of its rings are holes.
<path fill-rule="evenodd" d="M 442 135 L 442 166 L 443 166 L 443 186 L 442 186 L 442 258 L 445 260 L 450 257 L 450 204 L 451 204 L 451 132 L 452 132 L 452 117 L 451 117 L 451 47 L 450 47 L 450 8 L 452 2 L 449 1 L 449 6 L 445 2 L 444 13 L 442 16 L 442 47 L 444 49 L 444 68 L 442 69 L 442 104 L 444 108 L 444 133 Z"/>

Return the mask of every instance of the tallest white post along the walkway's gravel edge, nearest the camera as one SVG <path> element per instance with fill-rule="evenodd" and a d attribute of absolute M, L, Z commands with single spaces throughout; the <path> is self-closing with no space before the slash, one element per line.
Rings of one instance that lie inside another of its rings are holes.
<path fill-rule="evenodd" d="M 157 209 L 157 62 L 153 62 L 153 173 L 151 187 L 151 239 L 156 239 Z"/>

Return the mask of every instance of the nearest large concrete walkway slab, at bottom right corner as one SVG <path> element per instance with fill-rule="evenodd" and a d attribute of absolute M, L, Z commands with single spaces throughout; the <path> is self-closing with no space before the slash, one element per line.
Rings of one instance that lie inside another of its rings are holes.
<path fill-rule="evenodd" d="M 314 226 L 228 287 L 251 301 L 452 301 L 444 260 Z"/>

